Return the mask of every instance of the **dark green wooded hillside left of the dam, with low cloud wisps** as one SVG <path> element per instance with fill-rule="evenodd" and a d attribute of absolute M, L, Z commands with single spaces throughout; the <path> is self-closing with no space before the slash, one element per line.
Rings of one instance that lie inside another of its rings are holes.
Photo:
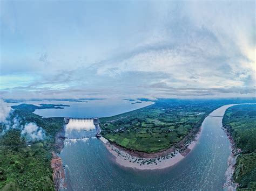
<path fill-rule="evenodd" d="M 15 106 L 8 120 L 9 126 L 15 123 L 15 118 L 20 120 L 16 122 L 16 129 L 6 131 L 8 124 L 0 124 L 1 190 L 54 190 L 51 152 L 56 151 L 55 135 L 62 128 L 63 118 L 42 118 L 32 113 L 42 107 L 56 108 L 56 105 Z M 26 143 L 21 136 L 21 126 L 31 122 L 44 129 L 44 140 Z"/>

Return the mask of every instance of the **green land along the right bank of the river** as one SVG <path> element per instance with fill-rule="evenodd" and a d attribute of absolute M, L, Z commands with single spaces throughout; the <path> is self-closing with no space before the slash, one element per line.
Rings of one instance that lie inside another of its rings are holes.
<path fill-rule="evenodd" d="M 223 118 L 235 147 L 242 150 L 235 164 L 234 181 L 239 189 L 256 189 L 256 105 L 235 105 Z"/>

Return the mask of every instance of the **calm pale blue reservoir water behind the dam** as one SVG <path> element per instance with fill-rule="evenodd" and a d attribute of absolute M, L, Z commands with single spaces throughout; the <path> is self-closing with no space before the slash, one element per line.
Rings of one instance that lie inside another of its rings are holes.
<path fill-rule="evenodd" d="M 106 100 L 88 100 L 87 102 L 30 101 L 25 103 L 34 105 L 38 103 L 70 105 L 70 107 L 65 107 L 65 109 L 37 109 L 35 114 L 43 117 L 109 117 L 153 104 L 153 102 L 150 101 L 136 103 L 137 101 L 118 100 L 113 98 Z"/>

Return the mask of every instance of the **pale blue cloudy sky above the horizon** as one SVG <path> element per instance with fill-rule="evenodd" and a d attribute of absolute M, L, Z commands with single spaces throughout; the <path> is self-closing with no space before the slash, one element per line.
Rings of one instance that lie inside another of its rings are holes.
<path fill-rule="evenodd" d="M 255 96 L 254 1 L 0 1 L 3 98 Z"/>

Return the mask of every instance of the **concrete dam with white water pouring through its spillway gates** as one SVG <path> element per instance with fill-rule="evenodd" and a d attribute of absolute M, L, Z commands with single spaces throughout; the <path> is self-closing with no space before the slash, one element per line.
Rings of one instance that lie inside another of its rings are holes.
<path fill-rule="evenodd" d="M 64 123 L 67 139 L 96 137 L 100 133 L 98 118 L 65 117 Z"/>

